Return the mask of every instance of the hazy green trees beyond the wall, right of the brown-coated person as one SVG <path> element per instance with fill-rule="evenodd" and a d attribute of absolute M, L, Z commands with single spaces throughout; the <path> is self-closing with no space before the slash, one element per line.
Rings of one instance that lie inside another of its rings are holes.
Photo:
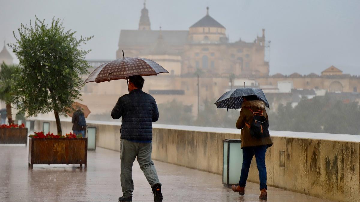
<path fill-rule="evenodd" d="M 296 132 L 360 134 L 357 102 L 344 103 L 328 96 L 302 99 L 292 108 L 280 105 L 269 115 L 270 129 Z"/>

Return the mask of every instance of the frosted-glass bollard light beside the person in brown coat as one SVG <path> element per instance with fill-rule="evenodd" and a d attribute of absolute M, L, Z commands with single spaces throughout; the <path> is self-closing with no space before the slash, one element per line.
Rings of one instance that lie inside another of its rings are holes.
<path fill-rule="evenodd" d="M 223 143 L 222 184 L 230 187 L 238 184 L 243 164 L 241 139 L 225 139 Z"/>

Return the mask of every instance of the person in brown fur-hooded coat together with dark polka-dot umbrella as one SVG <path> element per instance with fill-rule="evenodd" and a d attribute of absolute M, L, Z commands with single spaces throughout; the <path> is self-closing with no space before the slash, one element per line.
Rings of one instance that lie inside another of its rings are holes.
<path fill-rule="evenodd" d="M 215 104 L 217 108 L 241 108 L 236 128 L 241 129 L 243 165 L 239 185 L 233 185 L 231 188 L 234 192 L 244 195 L 251 160 L 255 155 L 260 178 L 259 198 L 267 199 L 265 153 L 273 142 L 269 135 L 269 117 L 265 110 L 265 106 L 269 107 L 269 103 L 264 92 L 256 88 L 238 88 L 226 92 Z"/>

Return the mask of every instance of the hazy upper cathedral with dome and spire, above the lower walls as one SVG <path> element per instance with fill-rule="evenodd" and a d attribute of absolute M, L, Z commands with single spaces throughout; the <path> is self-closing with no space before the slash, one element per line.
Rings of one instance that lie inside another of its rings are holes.
<path fill-rule="evenodd" d="M 226 28 L 206 15 L 189 30 L 152 30 L 144 4 L 137 30 L 121 30 L 116 57 L 149 58 L 166 67 L 171 75 L 192 76 L 201 70 L 204 76 L 264 77 L 269 75 L 265 57 L 265 29 L 253 42 L 229 42 Z"/>

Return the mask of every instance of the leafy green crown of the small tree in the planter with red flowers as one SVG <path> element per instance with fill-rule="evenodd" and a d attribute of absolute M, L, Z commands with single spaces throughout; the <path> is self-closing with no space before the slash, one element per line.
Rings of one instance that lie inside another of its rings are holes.
<path fill-rule="evenodd" d="M 65 31 L 54 18 L 50 25 L 36 18 L 35 24 L 21 24 L 18 32 L 19 36 L 14 32 L 17 42 L 10 45 L 22 66 L 13 88 L 14 102 L 28 116 L 53 110 L 55 116 L 66 115 L 80 98 L 81 75 L 90 67 L 85 60 L 90 50 L 81 50 L 80 45 L 92 37 L 77 40 L 76 32 Z"/>

